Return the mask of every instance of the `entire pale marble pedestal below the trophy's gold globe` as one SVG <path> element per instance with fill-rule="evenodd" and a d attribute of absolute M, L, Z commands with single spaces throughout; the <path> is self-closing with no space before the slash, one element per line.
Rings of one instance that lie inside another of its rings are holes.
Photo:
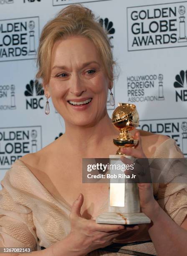
<path fill-rule="evenodd" d="M 124 164 L 120 160 L 120 155 L 110 155 L 110 164 Z M 134 160 L 131 156 L 127 158 Z M 119 171 L 121 172 L 121 170 Z M 115 174 L 116 170 L 110 170 L 110 174 Z M 151 220 L 140 212 L 139 190 L 136 183 L 125 183 L 124 179 L 118 179 L 115 183 L 110 179 L 109 209 L 108 212 L 101 213 L 96 217 L 96 223 L 103 224 L 145 224 Z M 117 182 L 117 183 L 116 183 Z"/>

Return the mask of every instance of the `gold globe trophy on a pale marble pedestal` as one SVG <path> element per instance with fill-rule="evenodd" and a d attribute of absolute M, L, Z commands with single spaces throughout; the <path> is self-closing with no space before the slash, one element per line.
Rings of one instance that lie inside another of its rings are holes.
<path fill-rule="evenodd" d="M 120 160 L 121 147 L 134 147 L 138 143 L 132 138 L 130 131 L 139 125 L 139 115 L 136 106 L 128 103 L 118 103 L 118 107 L 112 115 L 112 123 L 120 130 L 120 134 L 113 142 L 118 146 L 116 155 L 110 155 L 111 165 L 124 165 Z M 133 160 L 132 156 L 126 156 Z M 110 169 L 110 177 L 115 176 L 116 170 Z M 117 175 L 116 175 L 117 176 Z M 125 178 L 110 178 L 109 211 L 104 212 L 96 218 L 96 223 L 107 224 L 143 224 L 151 220 L 140 212 L 139 190 L 136 183 L 129 183 Z"/>

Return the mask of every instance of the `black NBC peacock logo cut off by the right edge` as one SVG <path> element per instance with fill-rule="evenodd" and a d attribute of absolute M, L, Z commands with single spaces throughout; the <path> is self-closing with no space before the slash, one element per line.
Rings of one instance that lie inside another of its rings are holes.
<path fill-rule="evenodd" d="M 176 88 L 175 91 L 175 100 L 178 102 L 181 101 L 187 101 L 187 70 L 181 70 L 179 74 L 175 76 L 175 82 L 174 82 L 174 88 Z"/>

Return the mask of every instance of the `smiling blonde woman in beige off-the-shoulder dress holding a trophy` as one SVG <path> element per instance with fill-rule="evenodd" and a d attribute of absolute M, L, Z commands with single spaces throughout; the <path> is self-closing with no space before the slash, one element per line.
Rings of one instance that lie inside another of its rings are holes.
<path fill-rule="evenodd" d="M 114 64 L 107 35 L 91 10 L 70 5 L 43 28 L 37 78 L 43 79 L 47 99 L 51 97 L 64 118 L 66 133 L 15 161 L 6 173 L 0 191 L 0 247 L 31 247 L 33 255 L 41 256 L 185 255 L 185 184 L 154 186 L 157 201 L 150 184 L 139 184 L 142 212 L 152 220 L 150 225 L 94 220 L 107 210 L 108 184 L 82 184 L 81 159 L 116 152 L 112 140 L 119 132 L 106 110 Z M 121 149 L 124 154 L 183 157 L 166 136 L 140 130 L 132 135 L 138 146 Z M 117 253 L 114 245 L 123 250 Z"/>

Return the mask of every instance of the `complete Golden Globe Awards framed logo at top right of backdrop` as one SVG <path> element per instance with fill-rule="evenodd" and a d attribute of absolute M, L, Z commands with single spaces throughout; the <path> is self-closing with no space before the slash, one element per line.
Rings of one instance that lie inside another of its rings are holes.
<path fill-rule="evenodd" d="M 127 8 L 128 51 L 187 46 L 187 2 Z"/>

